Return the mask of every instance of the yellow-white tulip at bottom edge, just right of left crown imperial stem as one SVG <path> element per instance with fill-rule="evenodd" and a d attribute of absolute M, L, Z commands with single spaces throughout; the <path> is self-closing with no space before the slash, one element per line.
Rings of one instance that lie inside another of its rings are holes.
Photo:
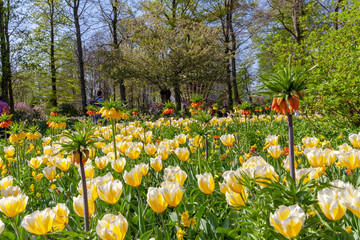
<path fill-rule="evenodd" d="M 102 240 L 123 240 L 128 229 L 126 218 L 119 214 L 106 214 L 98 221 L 96 233 Z"/>

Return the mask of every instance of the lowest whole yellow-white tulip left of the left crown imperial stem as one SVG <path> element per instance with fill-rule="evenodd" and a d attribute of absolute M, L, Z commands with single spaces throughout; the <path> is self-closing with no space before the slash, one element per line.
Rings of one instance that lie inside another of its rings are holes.
<path fill-rule="evenodd" d="M 45 235 L 50 232 L 55 216 L 55 213 L 50 208 L 42 211 L 37 210 L 30 215 L 26 215 L 21 221 L 21 226 L 35 235 Z"/>

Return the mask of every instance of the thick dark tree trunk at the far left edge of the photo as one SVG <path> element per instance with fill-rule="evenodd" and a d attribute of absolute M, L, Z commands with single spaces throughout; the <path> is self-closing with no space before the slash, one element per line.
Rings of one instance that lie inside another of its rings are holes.
<path fill-rule="evenodd" d="M 11 109 L 14 109 L 14 98 L 11 84 L 11 63 L 10 63 L 10 41 L 9 41 L 9 19 L 10 2 L 0 0 L 0 48 L 1 48 L 1 94 L 3 100 L 8 102 Z M 11 90 L 10 90 L 11 88 Z"/>

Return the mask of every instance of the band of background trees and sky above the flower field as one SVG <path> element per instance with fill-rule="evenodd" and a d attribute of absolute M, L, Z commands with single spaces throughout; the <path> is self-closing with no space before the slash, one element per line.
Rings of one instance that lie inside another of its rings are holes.
<path fill-rule="evenodd" d="M 292 56 L 316 66 L 303 113 L 360 124 L 359 1 L 7 0 L 0 10 L 1 91 L 13 109 L 85 110 L 98 89 L 143 111 L 169 99 L 179 110 L 195 93 L 253 102 L 260 77 Z"/>

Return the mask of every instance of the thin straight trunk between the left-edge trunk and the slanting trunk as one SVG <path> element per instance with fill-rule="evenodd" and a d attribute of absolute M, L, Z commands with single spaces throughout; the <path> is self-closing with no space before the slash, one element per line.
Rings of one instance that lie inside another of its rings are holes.
<path fill-rule="evenodd" d="M 51 69 L 51 98 L 50 102 L 53 107 L 57 106 L 56 93 L 56 67 L 55 67 L 55 34 L 54 34 L 54 0 L 50 4 L 50 69 Z"/>

